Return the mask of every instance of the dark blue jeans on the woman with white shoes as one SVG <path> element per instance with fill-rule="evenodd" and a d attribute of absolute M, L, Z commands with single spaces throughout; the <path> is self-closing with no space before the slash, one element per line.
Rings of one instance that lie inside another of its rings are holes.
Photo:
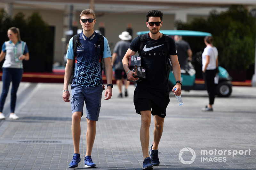
<path fill-rule="evenodd" d="M 3 68 L 3 91 L 0 98 L 0 112 L 3 111 L 5 99 L 9 91 L 10 83 L 12 81 L 11 90 L 11 113 L 14 113 L 17 99 L 17 90 L 22 79 L 23 69 L 22 68 Z"/>

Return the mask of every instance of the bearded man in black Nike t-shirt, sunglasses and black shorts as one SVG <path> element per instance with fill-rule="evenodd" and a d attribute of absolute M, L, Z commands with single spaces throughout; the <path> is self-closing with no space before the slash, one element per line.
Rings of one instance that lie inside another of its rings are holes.
<path fill-rule="evenodd" d="M 144 157 L 143 169 L 153 169 L 153 166 L 158 166 L 160 163 L 157 149 L 163 132 L 166 108 L 170 102 L 168 93 L 168 58 L 171 60 L 173 74 L 177 81 L 172 91 L 177 96 L 181 94 L 181 81 L 180 64 L 175 42 L 171 37 L 164 37 L 165 35 L 159 32 L 163 24 L 163 13 L 157 10 L 149 11 L 146 20 L 150 32 L 141 50 L 141 67 L 144 67 L 146 70 L 146 78 L 137 83 L 133 102 L 136 113 L 141 115 L 140 142 Z M 166 39 L 169 43 L 164 42 Z M 128 80 L 138 80 L 138 78 L 133 77 L 133 74 L 136 73 L 129 69 L 128 60 L 130 55 L 134 55 L 140 50 L 140 43 L 140 36 L 133 39 L 123 58 L 123 66 Z M 167 44 L 169 44 L 169 48 L 166 47 Z M 174 90 L 174 88 L 177 89 Z M 154 142 L 150 148 L 151 158 L 149 158 L 148 145 L 151 113 L 154 116 L 155 128 Z"/>

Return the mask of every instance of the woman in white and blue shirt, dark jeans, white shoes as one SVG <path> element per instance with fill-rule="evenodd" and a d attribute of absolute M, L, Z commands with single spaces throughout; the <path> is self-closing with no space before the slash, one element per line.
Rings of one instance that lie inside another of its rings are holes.
<path fill-rule="evenodd" d="M 17 99 L 16 94 L 23 74 L 22 60 L 29 60 L 28 46 L 26 42 L 21 41 L 20 30 L 16 27 L 8 29 L 7 37 L 9 41 L 4 42 L 0 53 L 0 62 L 5 58 L 2 66 L 3 91 L 0 97 L 0 119 L 5 119 L 2 111 L 11 81 L 11 113 L 9 118 L 18 119 L 19 117 L 14 113 Z"/>

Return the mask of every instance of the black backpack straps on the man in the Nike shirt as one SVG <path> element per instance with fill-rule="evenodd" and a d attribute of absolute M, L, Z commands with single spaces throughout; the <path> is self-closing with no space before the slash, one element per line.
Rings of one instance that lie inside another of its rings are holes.
<path fill-rule="evenodd" d="M 141 56 L 142 48 L 143 48 L 143 46 L 144 46 L 145 43 L 146 43 L 147 34 L 148 34 L 148 33 L 142 34 L 142 35 L 140 36 L 140 48 L 139 48 L 139 51 L 138 51 L 138 53 L 139 53 L 140 56 Z M 169 59 L 170 43 L 169 43 L 169 41 L 168 41 L 168 38 L 170 39 L 171 37 L 170 37 L 169 35 L 166 35 L 166 34 L 163 34 L 163 36 L 164 36 L 164 46 L 166 47 L 166 48 L 164 48 L 164 50 L 163 50 L 163 55 L 166 56 L 167 72 L 168 72 L 168 75 L 169 75 L 169 74 L 170 74 L 170 69 L 171 69 L 171 61 L 170 61 L 170 59 Z M 166 49 L 167 49 L 167 54 L 166 54 L 166 52 L 165 52 Z"/>

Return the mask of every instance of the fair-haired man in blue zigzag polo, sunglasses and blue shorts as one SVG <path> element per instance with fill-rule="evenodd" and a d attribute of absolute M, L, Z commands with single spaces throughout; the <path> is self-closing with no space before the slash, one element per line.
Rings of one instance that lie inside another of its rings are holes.
<path fill-rule="evenodd" d="M 69 40 L 68 51 L 66 54 L 67 64 L 65 68 L 63 100 L 69 102 L 68 84 L 72 74 L 73 62 L 75 60 L 74 78 L 71 85 L 71 109 L 72 109 L 72 136 L 74 143 L 74 156 L 69 164 L 69 168 L 78 168 L 81 163 L 79 142 L 81 135 L 80 121 L 83 116 L 84 101 L 86 105 L 86 155 L 84 158 L 85 167 L 96 167 L 92 161 L 92 146 L 96 134 L 96 121 L 99 119 L 101 96 L 104 89 L 102 83 L 102 68 L 100 49 L 95 50 L 98 40 L 98 34 L 94 32 L 95 14 L 91 9 L 87 9 L 80 14 L 80 24 L 83 31 L 79 35 L 81 43 L 77 49 L 73 49 L 73 37 Z M 98 46 L 97 46 L 98 48 Z M 100 47 L 102 48 L 102 47 Z M 111 53 L 108 40 L 104 37 L 103 62 L 107 77 L 107 89 L 105 91 L 105 99 L 108 100 L 112 96 L 112 65 Z M 74 50 L 76 56 L 74 58 Z"/>

